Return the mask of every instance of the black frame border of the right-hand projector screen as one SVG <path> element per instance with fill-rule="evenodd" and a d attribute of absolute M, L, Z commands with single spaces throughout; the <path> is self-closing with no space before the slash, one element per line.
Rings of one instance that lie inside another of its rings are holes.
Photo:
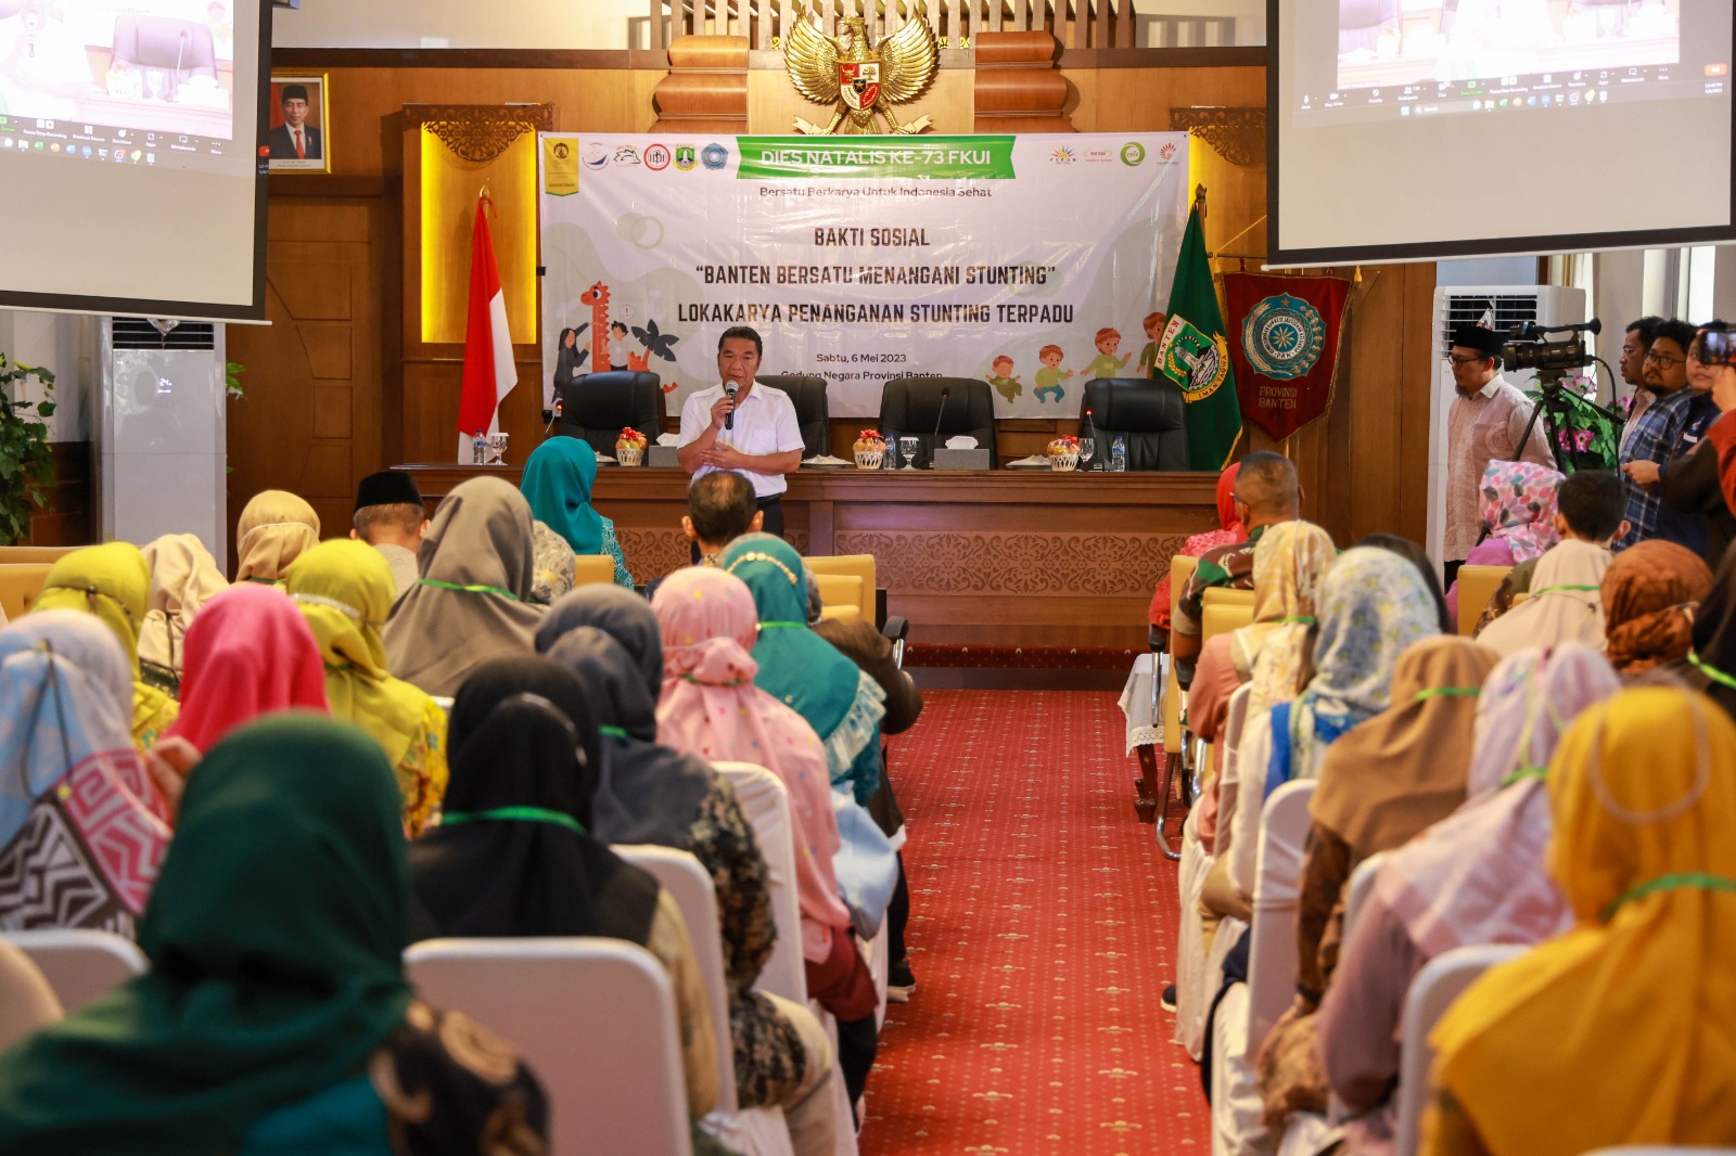
<path fill-rule="evenodd" d="M 1283 248 L 1279 231 L 1281 198 L 1278 189 L 1279 137 L 1283 115 L 1285 45 L 1279 26 L 1279 5 L 1285 0 L 1266 0 L 1266 236 L 1267 269 L 1325 269 L 1332 266 L 1380 266 L 1427 260 L 1462 260 L 1479 257 L 1547 257 L 1554 253 L 1583 253 L 1621 248 L 1677 248 L 1693 245 L 1724 245 L 1736 241 L 1736 172 L 1731 175 L 1729 224 L 1682 229 L 1628 229 L 1613 233 L 1557 233 L 1542 236 L 1470 238 L 1465 241 L 1420 241 L 1401 245 L 1340 245 L 1316 248 Z M 1292 0 L 1305 3 L 1305 0 Z M 1731 59 L 1736 61 L 1736 21 L 1731 28 Z M 1736 85 L 1736 76 L 1729 78 Z M 1736 89 L 1731 94 L 1731 165 L 1736 170 Z M 1682 149 L 1684 156 L 1689 149 Z M 1660 193 L 1667 196 L 1668 193 Z"/>

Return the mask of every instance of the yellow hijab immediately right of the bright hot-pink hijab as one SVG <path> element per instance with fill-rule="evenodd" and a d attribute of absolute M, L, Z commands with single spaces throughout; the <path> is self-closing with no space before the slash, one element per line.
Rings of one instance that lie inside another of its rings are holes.
<path fill-rule="evenodd" d="M 398 592 L 385 557 L 365 542 L 321 542 L 290 566 L 286 588 L 319 642 L 332 717 L 366 731 L 396 767 L 432 700 L 385 670 L 380 625 Z"/>

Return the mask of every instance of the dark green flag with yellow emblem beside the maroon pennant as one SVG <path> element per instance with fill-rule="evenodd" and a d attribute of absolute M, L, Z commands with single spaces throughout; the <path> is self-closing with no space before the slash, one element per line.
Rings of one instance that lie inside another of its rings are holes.
<path fill-rule="evenodd" d="M 1170 323 L 1158 344 L 1158 373 L 1182 387 L 1187 401 L 1187 463 L 1213 474 L 1229 462 L 1241 437 L 1236 371 L 1229 366 L 1224 312 L 1212 286 L 1200 207 L 1187 213 L 1187 233 L 1175 259 Z"/>

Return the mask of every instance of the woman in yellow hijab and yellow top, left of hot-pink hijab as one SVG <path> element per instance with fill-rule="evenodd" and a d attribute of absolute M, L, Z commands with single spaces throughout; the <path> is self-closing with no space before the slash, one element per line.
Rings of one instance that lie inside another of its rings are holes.
<path fill-rule="evenodd" d="M 73 550 L 49 568 L 35 611 L 76 609 L 95 614 L 127 649 L 132 668 L 132 743 L 151 746 L 175 720 L 175 700 L 144 680 L 139 670 L 139 625 L 151 590 L 151 568 L 125 542 Z"/>

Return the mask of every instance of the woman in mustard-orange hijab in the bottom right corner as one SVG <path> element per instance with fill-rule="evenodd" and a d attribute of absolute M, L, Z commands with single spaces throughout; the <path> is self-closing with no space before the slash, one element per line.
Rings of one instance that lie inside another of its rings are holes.
<path fill-rule="evenodd" d="M 1736 724 L 1635 687 L 1549 769 L 1549 870 L 1573 930 L 1446 1012 L 1422 1153 L 1578 1156 L 1736 1137 Z"/>

